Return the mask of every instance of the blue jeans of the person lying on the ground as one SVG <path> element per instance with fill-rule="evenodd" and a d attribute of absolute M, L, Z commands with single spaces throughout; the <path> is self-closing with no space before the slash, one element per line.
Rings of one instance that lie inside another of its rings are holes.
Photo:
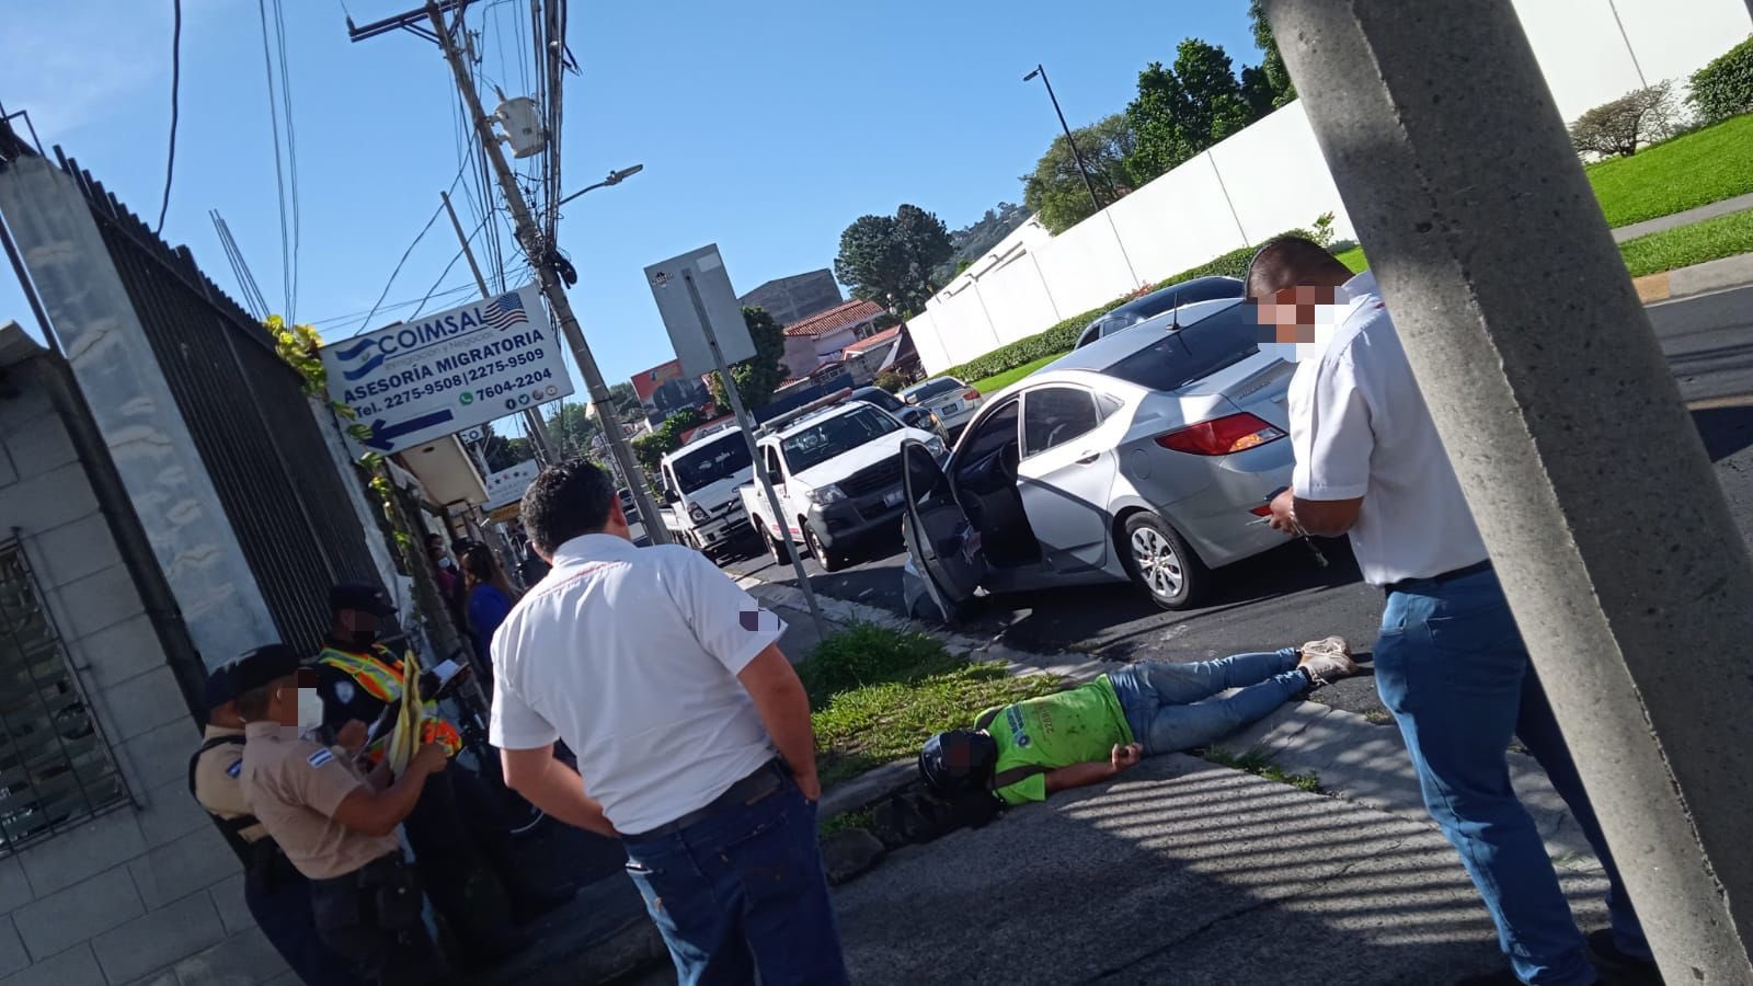
<path fill-rule="evenodd" d="M 1125 725 L 1146 754 L 1196 749 L 1264 719 L 1309 686 L 1294 647 L 1215 661 L 1138 661 L 1110 672 Z M 1220 691 L 1236 695 L 1203 702 Z"/>

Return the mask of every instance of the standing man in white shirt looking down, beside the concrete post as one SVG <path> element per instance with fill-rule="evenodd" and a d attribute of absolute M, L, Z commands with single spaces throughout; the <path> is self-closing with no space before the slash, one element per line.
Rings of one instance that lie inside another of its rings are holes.
<path fill-rule="evenodd" d="M 1273 526 L 1350 535 L 1364 581 L 1387 593 L 1376 688 L 1406 739 L 1430 818 L 1485 898 L 1515 979 L 1595 982 L 1590 947 L 1609 965 L 1653 970 L 1374 277 L 1353 277 L 1320 246 L 1283 237 L 1255 256 L 1246 293 L 1262 349 L 1299 363 L 1288 398 L 1295 470 L 1273 500 Z M 1509 786 L 1513 737 L 1606 867 L 1613 926 L 1586 944 Z"/>

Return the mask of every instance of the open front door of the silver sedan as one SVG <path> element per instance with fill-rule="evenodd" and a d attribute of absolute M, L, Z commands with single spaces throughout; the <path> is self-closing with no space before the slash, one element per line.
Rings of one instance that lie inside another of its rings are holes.
<path fill-rule="evenodd" d="M 938 460 L 912 439 L 901 442 L 901 489 L 906 497 L 901 537 L 910 556 L 901 588 L 908 614 L 915 602 L 929 598 L 948 623 L 985 579 L 980 532 L 968 523 Z"/>

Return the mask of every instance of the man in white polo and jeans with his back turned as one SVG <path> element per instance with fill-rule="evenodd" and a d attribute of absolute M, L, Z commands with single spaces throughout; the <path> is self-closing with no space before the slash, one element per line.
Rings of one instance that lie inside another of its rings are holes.
<path fill-rule="evenodd" d="M 622 840 L 684 986 L 845 982 L 780 621 L 698 551 L 635 547 L 589 461 L 543 470 L 522 518 L 554 570 L 493 637 L 507 784 Z"/>

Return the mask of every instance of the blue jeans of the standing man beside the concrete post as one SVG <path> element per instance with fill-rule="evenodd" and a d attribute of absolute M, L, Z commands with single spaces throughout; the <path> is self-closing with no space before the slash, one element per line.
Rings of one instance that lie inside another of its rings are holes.
<path fill-rule="evenodd" d="M 1425 807 L 1460 851 L 1523 982 L 1593 982 L 1595 968 L 1534 819 L 1509 786 L 1511 737 L 1546 770 L 1606 867 L 1615 942 L 1651 954 L 1495 572 L 1392 593 L 1376 640 L 1376 688 L 1406 737 Z"/>

